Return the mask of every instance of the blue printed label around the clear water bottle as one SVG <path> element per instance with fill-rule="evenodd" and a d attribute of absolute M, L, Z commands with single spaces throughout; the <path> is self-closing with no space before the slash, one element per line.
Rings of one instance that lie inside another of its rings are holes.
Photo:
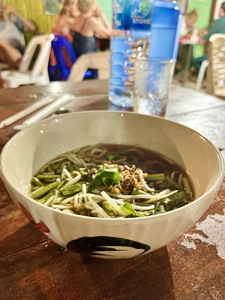
<path fill-rule="evenodd" d="M 149 31 L 152 0 L 113 0 L 113 29 Z"/>

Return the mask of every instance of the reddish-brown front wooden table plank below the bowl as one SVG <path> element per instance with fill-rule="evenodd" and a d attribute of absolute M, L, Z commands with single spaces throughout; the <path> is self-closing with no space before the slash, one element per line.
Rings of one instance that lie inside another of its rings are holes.
<path fill-rule="evenodd" d="M 222 213 L 224 188 L 225 182 L 198 223 L 209 214 Z M 199 234 L 197 225 L 187 233 Z M 17 232 L 12 240 L 14 235 Z M 217 295 L 220 298 L 215 299 L 225 299 L 225 261 L 217 255 L 216 246 L 196 240 L 196 249 L 188 249 L 183 246 L 185 240 L 182 235 L 149 254 L 123 260 L 60 252 L 52 241 L 40 242 L 1 259 L 1 295 L 18 300 L 209 300 Z"/>

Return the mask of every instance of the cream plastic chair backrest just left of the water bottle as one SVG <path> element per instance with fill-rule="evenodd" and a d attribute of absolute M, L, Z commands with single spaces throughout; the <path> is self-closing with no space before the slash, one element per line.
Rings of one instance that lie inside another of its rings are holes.
<path fill-rule="evenodd" d="M 81 82 L 87 69 L 97 69 L 98 79 L 110 78 L 110 52 L 82 54 L 77 58 L 67 81 Z"/>

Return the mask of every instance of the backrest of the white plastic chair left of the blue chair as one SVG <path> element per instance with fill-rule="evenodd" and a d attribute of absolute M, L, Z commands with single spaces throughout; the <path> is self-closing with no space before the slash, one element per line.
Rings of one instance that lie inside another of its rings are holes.
<path fill-rule="evenodd" d="M 22 61 L 19 67 L 19 72 L 27 72 L 38 45 L 41 46 L 37 59 L 32 67 L 31 76 L 36 77 L 47 71 L 48 60 L 51 50 L 51 42 L 54 35 L 37 35 L 29 42 L 25 49 Z"/>

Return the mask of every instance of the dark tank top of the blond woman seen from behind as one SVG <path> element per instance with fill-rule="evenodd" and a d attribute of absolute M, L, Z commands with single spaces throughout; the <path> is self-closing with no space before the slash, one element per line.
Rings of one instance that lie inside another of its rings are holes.
<path fill-rule="evenodd" d="M 81 54 L 97 51 L 95 35 L 93 35 L 92 37 L 85 37 L 84 35 L 81 34 L 87 20 L 88 19 L 85 20 L 79 32 L 74 31 L 73 48 L 75 50 L 77 57 L 79 57 Z M 75 20 L 75 24 L 76 24 L 76 20 Z"/>

